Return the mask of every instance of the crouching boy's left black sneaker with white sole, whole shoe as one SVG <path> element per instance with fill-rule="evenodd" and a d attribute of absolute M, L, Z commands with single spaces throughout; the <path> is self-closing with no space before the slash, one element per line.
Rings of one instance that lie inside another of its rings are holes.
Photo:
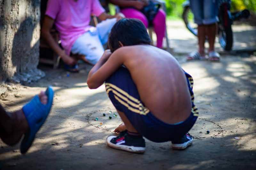
<path fill-rule="evenodd" d="M 121 132 L 117 137 L 107 137 L 107 144 L 111 148 L 134 153 L 144 153 L 146 147 L 145 140 L 142 136 L 137 137 L 129 135 L 127 130 Z"/>

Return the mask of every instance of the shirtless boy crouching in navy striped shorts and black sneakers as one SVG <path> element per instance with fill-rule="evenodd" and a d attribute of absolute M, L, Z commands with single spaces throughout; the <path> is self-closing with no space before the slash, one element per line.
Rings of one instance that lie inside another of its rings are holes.
<path fill-rule="evenodd" d="M 144 152 L 145 141 L 172 141 L 185 149 L 193 137 L 187 132 L 196 122 L 193 78 L 168 52 L 150 46 L 146 27 L 137 19 L 121 19 L 111 29 L 106 50 L 89 72 L 90 89 L 105 82 L 109 99 L 124 122 L 108 146 Z"/>

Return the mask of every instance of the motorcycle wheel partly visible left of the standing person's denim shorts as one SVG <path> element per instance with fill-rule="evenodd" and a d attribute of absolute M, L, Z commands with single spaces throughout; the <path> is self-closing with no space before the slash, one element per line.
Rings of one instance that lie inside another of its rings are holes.
<path fill-rule="evenodd" d="M 188 30 L 194 34 L 195 36 L 197 36 L 197 26 L 196 24 L 193 24 L 192 22 L 189 22 L 189 15 L 192 15 L 193 13 L 190 11 L 190 7 L 189 6 L 184 6 L 183 7 L 183 12 L 182 12 L 182 19 L 186 25 L 186 27 L 188 28 Z"/>

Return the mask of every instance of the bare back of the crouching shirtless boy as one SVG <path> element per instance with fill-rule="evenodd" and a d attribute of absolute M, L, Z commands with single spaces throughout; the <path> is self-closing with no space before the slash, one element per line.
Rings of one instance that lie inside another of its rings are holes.
<path fill-rule="evenodd" d="M 168 52 L 136 45 L 118 49 L 130 71 L 141 101 L 165 123 L 186 120 L 191 113 L 191 99 L 185 74 Z"/>

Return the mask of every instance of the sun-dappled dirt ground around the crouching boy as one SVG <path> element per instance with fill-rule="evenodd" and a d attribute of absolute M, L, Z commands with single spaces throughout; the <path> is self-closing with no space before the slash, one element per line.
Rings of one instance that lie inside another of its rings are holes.
<path fill-rule="evenodd" d="M 256 28 L 253 29 L 255 33 Z M 255 37 L 249 30 L 248 37 Z M 239 36 L 236 38 L 239 40 Z M 175 44 L 170 39 L 171 45 L 177 46 L 174 51 L 182 50 L 177 44 L 184 41 Z M 96 90 L 88 88 L 86 78 L 91 66 L 82 64 L 81 72 L 70 73 L 69 77 L 62 69 L 40 66 L 45 78 L 29 85 L 9 84 L 8 95 L 0 103 L 14 111 L 52 85 L 52 111 L 26 155 L 20 154 L 19 144 L 10 147 L 0 141 L 0 169 L 256 169 L 255 53 L 223 54 L 220 63 L 185 62 L 184 55 L 174 56 L 194 78 L 200 114 L 189 131 L 195 140 L 188 149 L 174 151 L 170 142 L 148 140 L 144 154 L 109 148 L 106 137 L 113 134 L 121 119 L 108 119 L 109 111 L 116 111 L 104 85 Z M 103 117 L 103 113 L 107 116 Z M 99 121 L 94 121 L 96 117 Z"/>

